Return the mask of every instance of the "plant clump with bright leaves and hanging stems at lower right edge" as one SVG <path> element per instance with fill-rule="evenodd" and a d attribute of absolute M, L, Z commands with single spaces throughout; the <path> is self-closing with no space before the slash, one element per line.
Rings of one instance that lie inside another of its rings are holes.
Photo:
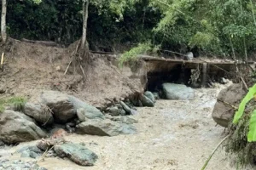
<path fill-rule="evenodd" d="M 230 139 L 226 150 L 236 153 L 241 167 L 256 160 L 256 110 L 255 110 L 256 84 L 242 99 L 238 111 L 230 126 Z"/>

